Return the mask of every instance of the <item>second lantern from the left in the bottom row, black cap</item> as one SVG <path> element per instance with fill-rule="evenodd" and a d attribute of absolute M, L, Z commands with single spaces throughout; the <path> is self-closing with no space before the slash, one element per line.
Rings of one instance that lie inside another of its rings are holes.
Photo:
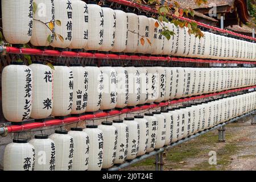
<path fill-rule="evenodd" d="M 56 147 L 53 140 L 48 135 L 35 135 L 30 144 L 35 148 L 35 171 L 55 171 Z"/>

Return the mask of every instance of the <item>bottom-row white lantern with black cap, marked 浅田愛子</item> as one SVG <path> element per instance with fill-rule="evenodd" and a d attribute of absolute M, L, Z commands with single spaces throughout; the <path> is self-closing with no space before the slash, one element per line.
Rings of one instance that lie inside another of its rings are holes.
<path fill-rule="evenodd" d="M 103 163 L 104 135 L 96 125 L 87 125 L 83 131 L 88 134 L 90 142 L 88 171 L 100 171 Z"/>

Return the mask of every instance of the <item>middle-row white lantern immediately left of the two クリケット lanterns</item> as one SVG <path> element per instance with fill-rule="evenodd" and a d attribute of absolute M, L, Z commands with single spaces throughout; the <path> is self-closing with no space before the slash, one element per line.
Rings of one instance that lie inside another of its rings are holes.
<path fill-rule="evenodd" d="M 141 77 L 141 98 L 139 105 L 145 104 L 148 100 L 148 71 L 145 67 L 137 67 Z"/>

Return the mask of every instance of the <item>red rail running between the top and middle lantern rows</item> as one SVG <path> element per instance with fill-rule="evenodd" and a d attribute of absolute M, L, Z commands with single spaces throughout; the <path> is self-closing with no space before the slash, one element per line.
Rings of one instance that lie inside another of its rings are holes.
<path fill-rule="evenodd" d="M 41 56 L 57 56 L 57 57 L 85 57 L 94 59 L 113 59 L 113 60 L 147 60 L 147 61 L 178 61 L 190 63 L 225 63 L 225 64 L 256 64 L 256 61 L 233 61 L 233 60 L 204 60 L 204 59 L 188 59 L 170 56 L 137 56 L 137 55 L 115 55 L 113 53 L 89 53 L 89 52 L 72 52 L 72 51 L 55 51 L 41 50 L 34 48 L 16 48 L 6 47 L 7 53 L 15 53 L 22 55 L 41 55 Z"/>

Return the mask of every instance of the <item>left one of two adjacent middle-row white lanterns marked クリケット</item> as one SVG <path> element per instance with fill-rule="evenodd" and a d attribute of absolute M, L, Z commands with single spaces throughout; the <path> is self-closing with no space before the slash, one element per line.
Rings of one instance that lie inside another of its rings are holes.
<path fill-rule="evenodd" d="M 148 100 L 151 103 L 158 97 L 158 71 L 156 67 L 146 67 L 148 71 Z"/>

